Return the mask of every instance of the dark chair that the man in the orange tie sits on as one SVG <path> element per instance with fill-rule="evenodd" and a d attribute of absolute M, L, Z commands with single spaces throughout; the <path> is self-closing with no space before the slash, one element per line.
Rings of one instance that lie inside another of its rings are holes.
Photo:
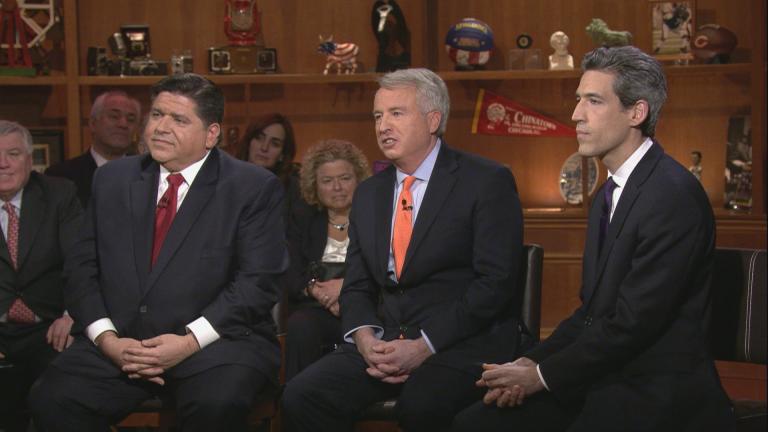
<path fill-rule="evenodd" d="M 522 263 L 520 273 L 518 274 L 516 286 L 523 287 L 523 298 L 521 302 L 520 318 L 528 329 L 528 334 L 533 339 L 532 342 L 538 342 L 541 329 L 541 275 L 544 262 L 544 248 L 536 244 L 526 244 L 523 246 Z M 376 402 L 366 408 L 358 418 L 356 429 L 367 430 L 374 426 L 377 431 L 398 430 L 395 423 L 396 399 L 389 399 Z M 388 423 L 386 427 L 382 422 Z M 376 425 L 368 425 L 376 423 Z M 382 427 L 384 426 L 384 427 Z"/>

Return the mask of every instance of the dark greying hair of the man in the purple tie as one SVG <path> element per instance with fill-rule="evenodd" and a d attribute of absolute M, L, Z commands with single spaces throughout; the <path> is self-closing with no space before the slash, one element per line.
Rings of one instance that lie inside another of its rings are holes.
<path fill-rule="evenodd" d="M 581 69 L 613 75 L 613 91 L 624 108 L 639 100 L 648 102 L 648 116 L 640 125 L 640 131 L 644 136 L 653 137 L 661 107 L 667 100 L 667 79 L 655 58 L 633 46 L 601 47 L 584 55 Z"/>

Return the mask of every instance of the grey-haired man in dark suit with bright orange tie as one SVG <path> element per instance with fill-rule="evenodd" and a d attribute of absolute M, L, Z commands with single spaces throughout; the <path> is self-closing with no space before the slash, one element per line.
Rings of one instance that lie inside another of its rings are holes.
<path fill-rule="evenodd" d="M 450 102 L 435 73 L 400 70 L 379 84 L 376 136 L 393 166 L 361 183 L 352 203 L 339 299 L 351 343 L 288 383 L 295 431 L 351 430 L 365 407 L 393 396 L 403 429 L 442 430 L 482 395 L 481 359 L 514 356 L 518 345 L 514 177 L 442 140 Z"/>

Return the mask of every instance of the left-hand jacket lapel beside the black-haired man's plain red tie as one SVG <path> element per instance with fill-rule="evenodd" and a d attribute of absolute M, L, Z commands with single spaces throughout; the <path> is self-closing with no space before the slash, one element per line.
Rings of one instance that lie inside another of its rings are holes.
<path fill-rule="evenodd" d="M 142 161 L 141 177 L 130 185 L 133 257 L 139 286 L 146 286 L 155 230 L 155 202 L 160 166 L 149 156 Z"/>

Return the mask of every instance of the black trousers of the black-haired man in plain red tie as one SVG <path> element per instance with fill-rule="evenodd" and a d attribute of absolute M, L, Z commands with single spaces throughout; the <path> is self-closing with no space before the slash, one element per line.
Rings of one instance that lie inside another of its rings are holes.
<path fill-rule="evenodd" d="M 269 380 L 256 369 L 223 365 L 166 381 L 165 386 L 127 376 L 92 378 L 49 367 L 32 388 L 35 427 L 40 432 L 102 432 L 152 396 L 175 401 L 183 431 L 248 430 L 256 395 Z"/>

